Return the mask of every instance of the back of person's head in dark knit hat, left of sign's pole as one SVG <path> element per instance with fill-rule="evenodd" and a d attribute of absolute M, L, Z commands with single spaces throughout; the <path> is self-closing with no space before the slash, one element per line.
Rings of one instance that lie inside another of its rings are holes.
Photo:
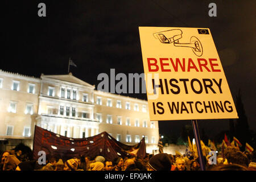
<path fill-rule="evenodd" d="M 150 171 L 171 171 L 172 162 L 168 154 L 156 154 L 148 162 L 148 167 Z"/>

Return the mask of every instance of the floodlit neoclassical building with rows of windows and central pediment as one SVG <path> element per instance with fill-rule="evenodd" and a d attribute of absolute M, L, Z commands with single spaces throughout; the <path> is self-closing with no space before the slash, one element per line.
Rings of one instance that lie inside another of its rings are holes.
<path fill-rule="evenodd" d="M 147 101 L 96 90 L 69 73 L 40 78 L 0 70 L 0 147 L 22 142 L 32 148 L 35 125 L 70 138 L 103 131 L 125 144 L 143 137 L 158 150 L 158 121 L 150 121 Z"/>

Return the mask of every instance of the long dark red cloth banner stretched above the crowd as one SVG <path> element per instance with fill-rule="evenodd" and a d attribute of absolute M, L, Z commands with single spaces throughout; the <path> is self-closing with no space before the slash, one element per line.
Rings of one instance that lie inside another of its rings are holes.
<path fill-rule="evenodd" d="M 146 144 L 144 138 L 142 138 L 141 142 L 129 146 L 118 142 L 106 132 L 88 138 L 69 138 L 35 126 L 34 159 L 39 158 L 39 151 L 44 151 L 47 155 L 58 156 L 64 160 L 82 155 L 90 156 L 91 158 L 101 155 L 107 160 L 114 160 L 118 156 L 131 155 L 144 158 Z"/>

